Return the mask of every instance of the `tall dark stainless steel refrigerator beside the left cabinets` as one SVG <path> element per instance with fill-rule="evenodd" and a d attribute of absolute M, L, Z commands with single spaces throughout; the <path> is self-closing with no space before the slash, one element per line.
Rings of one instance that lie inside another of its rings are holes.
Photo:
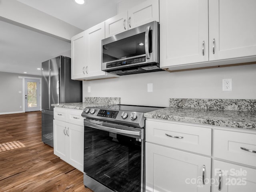
<path fill-rule="evenodd" d="M 71 59 L 58 56 L 42 63 L 42 141 L 53 146 L 55 103 L 82 102 L 82 81 L 71 79 Z"/>

